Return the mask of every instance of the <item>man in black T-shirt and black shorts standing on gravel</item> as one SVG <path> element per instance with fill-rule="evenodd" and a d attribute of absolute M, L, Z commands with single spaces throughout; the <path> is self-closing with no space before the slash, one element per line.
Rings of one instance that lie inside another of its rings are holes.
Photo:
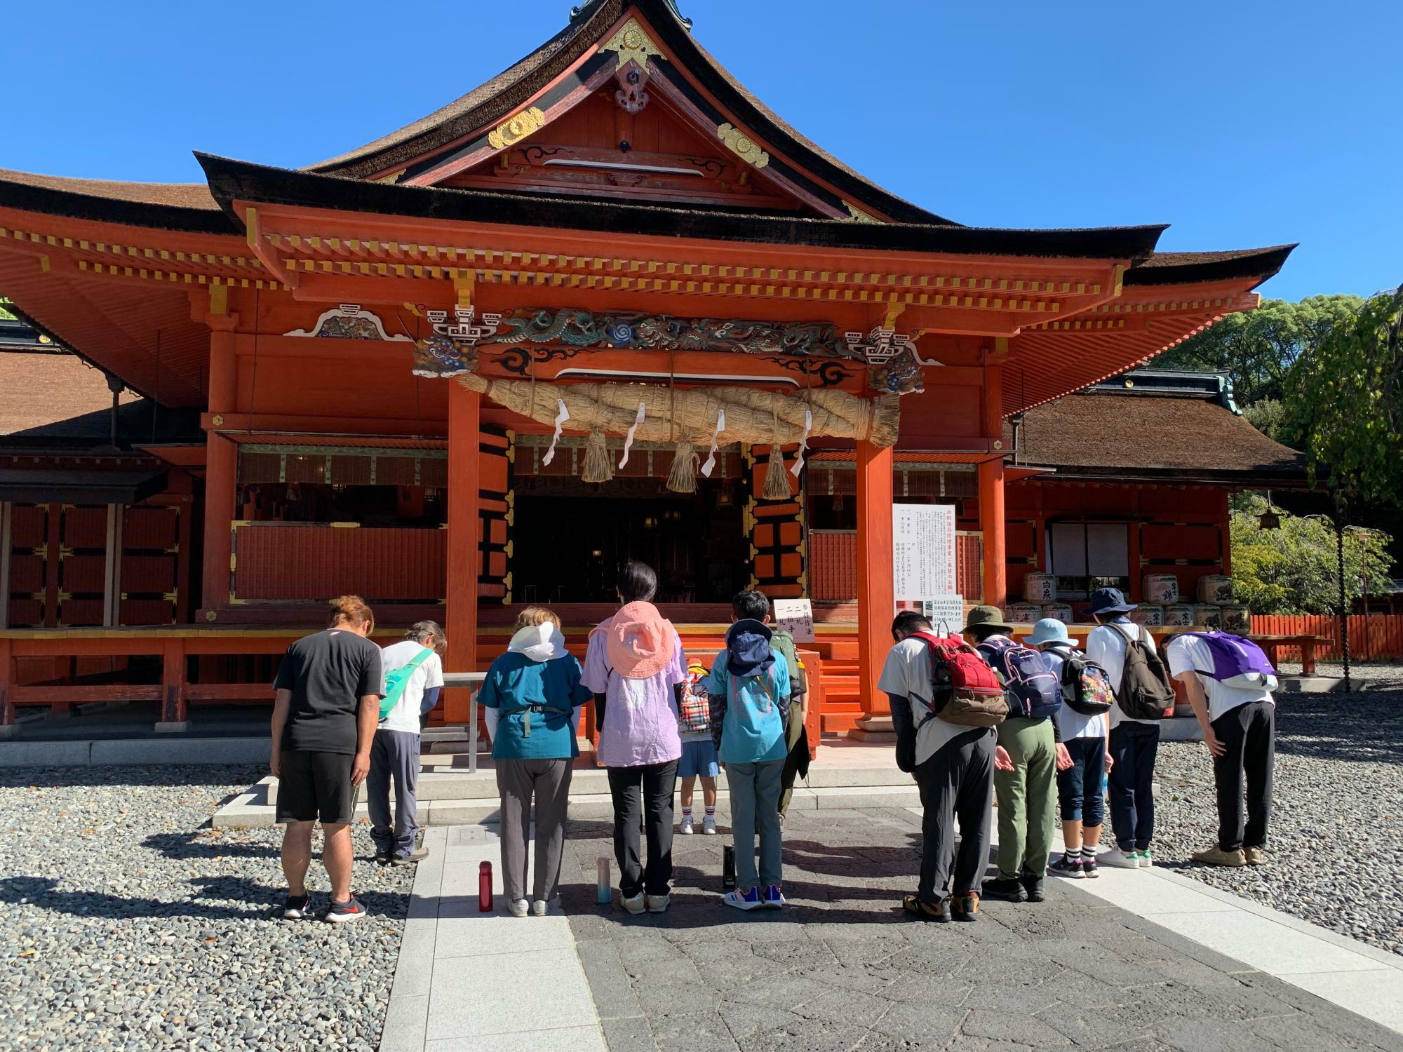
<path fill-rule="evenodd" d="M 279 780 L 278 821 L 288 825 L 282 915 L 293 920 L 311 916 L 307 867 L 317 819 L 321 864 L 331 878 L 323 917 L 340 924 L 365 916 L 351 893 L 351 822 L 380 721 L 380 648 L 366 638 L 373 627 L 375 616 L 359 596 L 333 599 L 331 627 L 297 640 L 278 666 L 269 766 Z"/>

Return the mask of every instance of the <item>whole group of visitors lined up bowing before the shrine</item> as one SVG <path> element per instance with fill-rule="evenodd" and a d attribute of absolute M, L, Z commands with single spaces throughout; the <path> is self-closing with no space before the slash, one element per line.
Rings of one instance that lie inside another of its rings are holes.
<path fill-rule="evenodd" d="M 793 637 L 772 624 L 769 599 L 746 589 L 732 599 L 724 649 L 710 668 L 689 665 L 676 628 L 652 603 L 657 586 L 651 567 L 623 564 L 619 609 L 589 633 L 582 663 L 567 649 L 554 612 L 522 610 L 485 673 L 478 701 L 501 797 L 502 886 L 512 916 L 558 906 L 588 701 L 613 802 L 623 909 L 666 912 L 673 833 L 696 832 L 697 780 L 702 835 L 718 832 L 723 769 L 734 886 L 721 902 L 739 910 L 787 905 L 784 815 L 810 762 L 804 662 Z M 362 784 L 375 860 L 412 864 L 428 856 L 415 780 L 419 732 L 443 686 L 446 637 L 436 623 L 419 621 L 382 649 L 368 638 L 375 620 L 361 599 L 342 596 L 331 609 L 330 627 L 289 647 L 279 666 L 271 766 L 281 780 L 276 821 L 286 823 L 282 913 L 345 923 L 365 916 L 351 891 L 351 825 Z M 1202 729 L 1218 790 L 1218 842 L 1194 860 L 1266 861 L 1275 738 L 1270 665 L 1246 640 L 1219 633 L 1184 633 L 1160 651 L 1131 619 L 1134 610 L 1115 589 L 1094 592 L 1087 616 L 1096 627 L 1085 651 L 1056 620 L 1038 621 L 1020 640 L 993 606 L 975 606 L 957 633 L 937 631 L 915 610 L 897 614 L 877 689 L 890 701 L 897 766 L 915 778 L 923 811 L 916 891 L 901 902 L 906 915 L 971 922 L 982 899 L 1042 902 L 1048 871 L 1085 879 L 1101 865 L 1150 867 L 1155 757 L 1159 721 L 1176 700 L 1172 677 Z M 1107 797 L 1114 844 L 1101 851 Z M 986 879 L 995 804 L 998 874 Z M 317 821 L 331 893 L 325 909 L 313 912 L 306 878 Z"/>

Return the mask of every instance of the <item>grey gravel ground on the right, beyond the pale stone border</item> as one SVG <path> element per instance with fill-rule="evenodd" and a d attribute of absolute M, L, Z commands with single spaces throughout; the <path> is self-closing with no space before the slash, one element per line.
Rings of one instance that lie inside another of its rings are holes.
<path fill-rule="evenodd" d="M 1218 830 L 1200 742 L 1159 746 L 1156 863 L 1403 954 L 1403 668 L 1351 694 L 1281 694 L 1268 864 L 1188 863 Z"/>

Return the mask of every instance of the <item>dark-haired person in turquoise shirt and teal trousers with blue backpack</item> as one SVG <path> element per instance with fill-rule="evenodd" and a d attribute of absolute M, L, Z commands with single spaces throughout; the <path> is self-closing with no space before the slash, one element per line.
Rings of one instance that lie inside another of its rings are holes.
<path fill-rule="evenodd" d="M 770 600 L 755 591 L 731 600 L 734 614 L 725 649 L 716 655 L 706 692 L 711 703 L 711 741 L 721 753 L 731 791 L 735 839 L 735 888 L 725 905 L 737 909 L 780 909 L 783 844 L 780 839 L 780 774 L 788 745 L 790 676 L 770 642 Z M 760 837 L 760 871 L 755 872 L 755 835 Z"/>

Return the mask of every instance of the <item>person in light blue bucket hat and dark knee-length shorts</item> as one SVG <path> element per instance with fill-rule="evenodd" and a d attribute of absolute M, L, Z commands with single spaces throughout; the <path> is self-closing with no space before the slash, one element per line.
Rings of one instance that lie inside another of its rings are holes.
<path fill-rule="evenodd" d="M 1055 617 L 1045 617 L 1033 626 L 1027 644 L 1038 647 L 1062 682 L 1062 665 L 1076 652 L 1066 626 Z M 1110 729 L 1108 713 L 1083 715 L 1062 703 L 1056 729 L 1059 748 L 1070 763 L 1056 773 L 1058 805 L 1062 811 L 1062 857 L 1052 863 L 1052 872 L 1062 877 L 1096 877 L 1096 851 L 1101 843 L 1101 822 L 1106 818 L 1106 774 L 1111 756 L 1106 752 Z"/>

